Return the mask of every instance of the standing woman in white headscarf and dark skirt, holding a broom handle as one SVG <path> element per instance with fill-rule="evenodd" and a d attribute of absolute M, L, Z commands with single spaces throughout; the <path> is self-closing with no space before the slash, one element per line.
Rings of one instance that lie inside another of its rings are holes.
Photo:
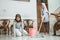
<path fill-rule="evenodd" d="M 42 5 L 41 12 L 42 12 L 42 15 L 44 16 L 44 20 L 43 20 L 44 32 L 49 33 L 49 13 L 48 13 L 45 3 L 41 3 L 41 5 Z"/>

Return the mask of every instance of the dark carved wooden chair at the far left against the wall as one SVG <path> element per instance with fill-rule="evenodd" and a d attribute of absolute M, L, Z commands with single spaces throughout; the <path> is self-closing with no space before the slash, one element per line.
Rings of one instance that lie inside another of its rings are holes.
<path fill-rule="evenodd" d="M 8 34 L 9 34 L 9 23 L 10 23 L 10 20 L 8 20 L 8 19 L 0 19 L 0 21 L 2 21 L 1 26 L 0 26 L 0 30 L 3 29 L 5 34 L 8 31 Z"/>

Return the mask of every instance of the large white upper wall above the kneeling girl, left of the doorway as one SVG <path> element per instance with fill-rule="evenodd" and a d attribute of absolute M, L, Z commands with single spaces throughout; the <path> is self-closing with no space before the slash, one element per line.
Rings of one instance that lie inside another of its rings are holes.
<path fill-rule="evenodd" d="M 22 18 L 36 19 L 36 0 L 0 0 L 0 18 L 14 18 L 16 13 L 21 14 Z"/>

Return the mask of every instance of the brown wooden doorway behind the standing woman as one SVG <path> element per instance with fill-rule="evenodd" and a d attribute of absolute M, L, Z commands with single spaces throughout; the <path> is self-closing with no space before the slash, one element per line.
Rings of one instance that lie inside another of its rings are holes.
<path fill-rule="evenodd" d="M 41 24 L 41 3 L 44 2 L 47 9 L 48 9 L 48 0 L 37 0 L 37 24 L 38 24 L 38 30 Z M 44 23 L 43 23 L 44 24 Z M 44 25 L 46 26 L 46 25 Z M 49 24 L 48 24 L 49 26 Z M 44 27 L 42 26 L 40 32 L 44 32 Z"/>

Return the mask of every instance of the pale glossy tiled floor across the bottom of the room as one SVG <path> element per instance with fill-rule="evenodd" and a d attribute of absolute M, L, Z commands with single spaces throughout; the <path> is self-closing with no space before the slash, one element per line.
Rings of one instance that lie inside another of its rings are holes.
<path fill-rule="evenodd" d="M 50 35 L 37 35 L 34 37 L 31 36 L 21 36 L 13 37 L 11 35 L 0 35 L 0 40 L 60 40 L 60 36 L 50 36 Z"/>

